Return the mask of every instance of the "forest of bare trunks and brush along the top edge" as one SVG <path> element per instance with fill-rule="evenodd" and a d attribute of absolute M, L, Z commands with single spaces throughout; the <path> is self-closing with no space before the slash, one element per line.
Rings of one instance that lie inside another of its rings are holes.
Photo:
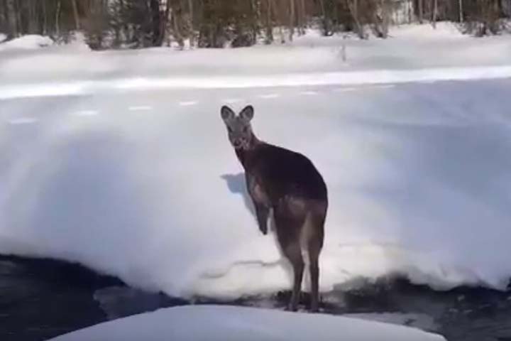
<path fill-rule="evenodd" d="M 236 48 L 286 43 L 309 28 L 387 38 L 392 25 L 437 21 L 485 36 L 507 31 L 510 14 L 511 0 L 0 0 L 0 32 L 59 43 L 82 32 L 97 50 Z"/>

